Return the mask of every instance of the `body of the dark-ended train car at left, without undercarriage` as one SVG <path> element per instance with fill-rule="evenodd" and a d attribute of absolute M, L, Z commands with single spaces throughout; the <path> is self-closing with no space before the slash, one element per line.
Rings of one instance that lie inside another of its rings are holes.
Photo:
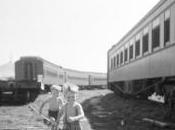
<path fill-rule="evenodd" d="M 15 64 L 16 81 L 38 81 L 46 85 L 60 85 L 64 82 L 62 67 L 40 57 L 21 57 Z"/>

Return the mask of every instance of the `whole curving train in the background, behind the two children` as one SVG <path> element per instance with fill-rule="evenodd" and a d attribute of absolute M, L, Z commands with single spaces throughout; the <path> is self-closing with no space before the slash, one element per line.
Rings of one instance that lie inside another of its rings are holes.
<path fill-rule="evenodd" d="M 63 86 L 64 83 L 78 85 L 80 89 L 105 88 L 107 76 L 64 68 L 41 57 L 23 56 L 15 62 L 14 80 L 6 85 L 1 83 L 0 96 L 10 92 L 15 100 L 33 101 L 39 93 L 50 91 L 52 85 Z"/>

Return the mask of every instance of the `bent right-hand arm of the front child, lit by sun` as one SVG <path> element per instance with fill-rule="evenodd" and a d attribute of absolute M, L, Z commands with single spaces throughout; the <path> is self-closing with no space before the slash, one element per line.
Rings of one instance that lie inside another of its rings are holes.
<path fill-rule="evenodd" d="M 82 118 L 84 118 L 84 111 L 83 111 L 83 108 L 82 108 L 81 104 L 78 104 L 76 109 L 77 109 L 78 115 L 73 116 L 73 117 L 69 117 L 70 122 L 79 121 Z"/>

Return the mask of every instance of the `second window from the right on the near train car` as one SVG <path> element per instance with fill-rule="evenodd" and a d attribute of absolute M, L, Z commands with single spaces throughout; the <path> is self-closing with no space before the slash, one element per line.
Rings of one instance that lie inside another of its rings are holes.
<path fill-rule="evenodd" d="M 153 21 L 153 30 L 152 30 L 152 49 L 160 46 L 160 21 L 159 18 Z"/>

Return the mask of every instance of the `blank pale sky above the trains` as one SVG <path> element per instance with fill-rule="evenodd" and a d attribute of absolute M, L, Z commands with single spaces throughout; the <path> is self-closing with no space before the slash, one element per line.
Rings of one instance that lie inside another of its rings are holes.
<path fill-rule="evenodd" d="M 40 56 L 107 72 L 107 51 L 159 0 L 0 0 L 0 65 Z"/>

